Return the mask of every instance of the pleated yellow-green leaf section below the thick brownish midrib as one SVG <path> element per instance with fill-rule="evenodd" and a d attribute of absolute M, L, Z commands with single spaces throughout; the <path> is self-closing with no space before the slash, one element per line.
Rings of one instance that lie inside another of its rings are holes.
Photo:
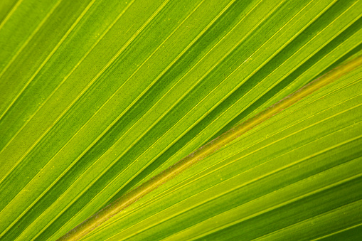
<path fill-rule="evenodd" d="M 256 127 L 87 240 L 310 240 L 361 225 L 361 77 Z"/>

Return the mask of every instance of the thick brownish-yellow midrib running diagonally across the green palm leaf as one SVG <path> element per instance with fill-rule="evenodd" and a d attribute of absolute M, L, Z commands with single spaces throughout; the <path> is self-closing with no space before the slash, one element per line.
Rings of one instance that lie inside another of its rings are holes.
<path fill-rule="evenodd" d="M 241 134 L 253 129 L 255 126 L 265 122 L 265 120 L 270 119 L 275 114 L 280 113 L 283 109 L 294 105 L 299 100 L 302 100 L 304 97 L 312 94 L 316 90 L 319 90 L 321 87 L 328 85 L 337 78 L 346 75 L 346 73 L 358 68 L 361 64 L 362 56 L 354 58 L 353 60 L 344 63 L 344 65 L 340 65 L 338 68 L 334 68 L 329 71 L 329 73 L 326 73 L 318 79 L 310 82 L 308 85 L 305 85 L 301 89 L 292 93 L 292 95 L 288 95 L 280 102 L 277 102 L 275 105 L 265 109 L 265 111 L 260 112 L 255 117 L 248 119 L 246 122 L 243 122 L 243 124 L 238 125 L 238 127 L 230 129 L 228 132 L 225 132 L 225 134 L 222 134 L 213 141 L 208 142 L 208 144 L 181 159 L 181 161 L 169 167 L 163 173 L 154 176 L 154 178 L 151 178 L 141 186 L 134 188 L 134 190 L 129 192 L 126 196 L 122 196 L 121 198 L 115 200 L 115 202 L 95 213 L 95 215 L 92 215 L 92 217 L 85 220 L 85 222 L 68 232 L 60 238 L 60 240 L 77 240 L 84 235 L 87 235 L 87 233 L 94 230 L 101 223 L 104 223 L 106 220 L 119 213 L 119 211 L 124 210 L 124 208 L 132 205 L 132 203 L 139 200 L 139 198 L 142 198 L 151 191 L 154 191 L 166 181 L 171 180 L 179 173 L 193 166 L 193 164 L 205 159 L 210 154 L 213 154 L 213 152 L 237 139 Z"/>

